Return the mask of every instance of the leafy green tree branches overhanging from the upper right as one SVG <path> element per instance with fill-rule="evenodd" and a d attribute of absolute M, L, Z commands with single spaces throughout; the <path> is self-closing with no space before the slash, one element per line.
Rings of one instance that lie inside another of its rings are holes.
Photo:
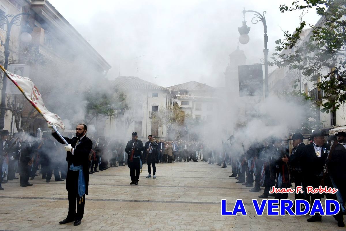
<path fill-rule="evenodd" d="M 274 62 L 277 66 L 289 66 L 301 70 L 301 74 L 316 81 L 315 85 L 330 100 L 321 105 L 321 110 L 329 113 L 346 102 L 346 1 L 304 0 L 293 1 L 292 6 L 281 5 L 280 11 L 300 10 L 301 20 L 294 33 L 284 32 L 284 39 L 275 43 Z M 314 9 L 321 16 L 317 25 L 308 24 L 303 15 Z M 311 27 L 308 37 L 303 30 Z"/>

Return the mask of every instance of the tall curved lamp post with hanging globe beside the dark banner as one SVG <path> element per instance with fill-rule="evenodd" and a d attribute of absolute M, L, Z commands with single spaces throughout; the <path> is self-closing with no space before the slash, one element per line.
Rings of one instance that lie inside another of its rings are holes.
<path fill-rule="evenodd" d="M 268 48 L 267 48 L 267 44 L 268 44 L 268 36 L 267 36 L 267 24 L 265 21 L 265 17 L 264 14 L 267 13 L 267 11 L 263 11 L 263 14 L 261 14 L 260 12 L 254 11 L 254 10 L 244 10 L 243 12 L 243 26 L 238 27 L 238 31 L 240 33 L 240 37 L 239 37 L 239 42 L 241 44 L 246 44 L 249 42 L 250 38 L 248 36 L 248 33 L 250 31 L 250 27 L 248 27 L 246 25 L 246 21 L 245 21 L 245 14 L 247 12 L 252 12 L 254 17 L 251 19 L 252 24 L 257 24 L 258 21 L 261 21 L 263 23 L 263 27 L 264 27 L 264 96 L 265 98 L 268 97 L 269 91 L 268 91 Z"/>

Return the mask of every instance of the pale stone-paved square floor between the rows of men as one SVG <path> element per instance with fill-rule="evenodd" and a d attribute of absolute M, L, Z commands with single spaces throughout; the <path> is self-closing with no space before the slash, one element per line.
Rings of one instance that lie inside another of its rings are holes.
<path fill-rule="evenodd" d="M 19 187 L 19 180 L 0 191 L 0 231 L 43 230 L 344 230 L 333 217 L 308 223 L 309 216 L 257 216 L 251 199 L 260 193 L 236 184 L 230 168 L 206 162 L 157 164 L 157 178 L 146 179 L 146 164 L 139 185 L 130 185 L 129 168 L 113 167 L 90 176 L 82 224 L 59 225 L 67 215 L 65 182 L 36 177 L 34 186 Z M 290 195 L 289 198 L 293 198 Z M 243 199 L 248 216 L 221 216 L 221 199 L 232 210 Z"/>

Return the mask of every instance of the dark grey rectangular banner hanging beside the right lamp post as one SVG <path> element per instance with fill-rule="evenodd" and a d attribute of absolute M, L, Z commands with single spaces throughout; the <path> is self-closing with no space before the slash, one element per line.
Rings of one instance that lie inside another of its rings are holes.
<path fill-rule="evenodd" d="M 262 64 L 239 65 L 239 96 L 263 95 Z"/>

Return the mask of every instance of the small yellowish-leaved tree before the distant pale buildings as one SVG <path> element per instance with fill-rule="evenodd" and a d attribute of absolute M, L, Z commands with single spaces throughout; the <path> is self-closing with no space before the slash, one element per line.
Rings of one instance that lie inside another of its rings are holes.
<path fill-rule="evenodd" d="M 158 113 L 153 115 L 153 122 L 159 127 L 165 125 L 167 133 L 174 136 L 174 131 L 180 131 L 183 128 L 184 122 L 190 117 L 189 113 L 183 112 L 179 105 L 175 102 L 174 105 L 161 106 Z"/>

